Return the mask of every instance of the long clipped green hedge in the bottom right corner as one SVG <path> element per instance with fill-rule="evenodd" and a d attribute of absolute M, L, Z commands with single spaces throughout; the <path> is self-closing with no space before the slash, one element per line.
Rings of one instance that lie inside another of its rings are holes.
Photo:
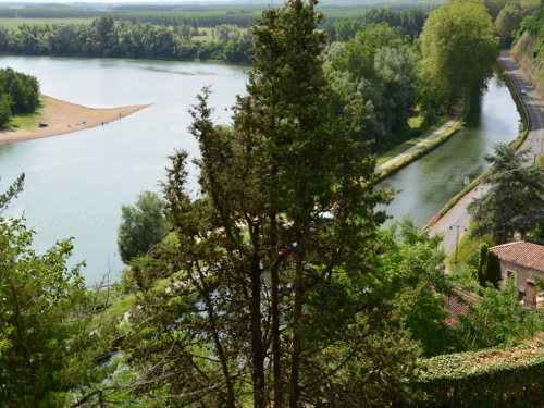
<path fill-rule="evenodd" d="M 544 343 L 422 359 L 398 407 L 544 407 Z"/>

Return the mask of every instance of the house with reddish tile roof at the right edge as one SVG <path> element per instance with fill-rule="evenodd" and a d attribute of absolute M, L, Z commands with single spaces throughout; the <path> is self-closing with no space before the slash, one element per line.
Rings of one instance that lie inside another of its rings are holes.
<path fill-rule="evenodd" d="M 526 306 L 536 306 L 533 276 L 544 277 L 544 246 L 517 240 L 490 248 L 500 259 L 503 280 L 514 276 L 519 299 Z"/>

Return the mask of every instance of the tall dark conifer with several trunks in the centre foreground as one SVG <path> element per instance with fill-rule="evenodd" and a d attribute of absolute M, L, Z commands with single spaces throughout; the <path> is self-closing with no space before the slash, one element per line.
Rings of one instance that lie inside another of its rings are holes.
<path fill-rule="evenodd" d="M 388 195 L 359 141 L 361 102 L 327 113 L 317 1 L 270 9 L 251 28 L 254 69 L 233 125 L 209 90 L 191 110 L 200 197 L 187 153 L 163 185 L 176 242 L 157 256 L 172 285 L 143 288 L 125 345 L 146 384 L 180 406 L 382 406 L 413 345 L 378 272 Z M 176 406 L 177 406 L 176 405 Z"/>

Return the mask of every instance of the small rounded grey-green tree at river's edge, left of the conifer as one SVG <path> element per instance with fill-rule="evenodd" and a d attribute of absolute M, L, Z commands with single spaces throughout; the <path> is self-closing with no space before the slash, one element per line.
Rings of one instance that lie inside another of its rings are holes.
<path fill-rule="evenodd" d="M 118 249 L 123 262 L 146 254 L 165 234 L 163 202 L 157 193 L 138 194 L 135 206 L 121 206 Z"/>

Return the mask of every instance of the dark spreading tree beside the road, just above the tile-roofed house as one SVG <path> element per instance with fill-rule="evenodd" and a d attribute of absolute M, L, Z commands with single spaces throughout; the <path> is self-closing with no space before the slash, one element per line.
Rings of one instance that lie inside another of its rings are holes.
<path fill-rule="evenodd" d="M 494 154 L 484 154 L 494 171 L 486 180 L 490 190 L 474 199 L 467 210 L 475 222 L 470 237 L 490 235 L 497 243 L 524 237 L 544 217 L 544 184 L 541 168 L 526 165 L 529 150 L 516 152 L 507 144 L 496 144 Z"/>

